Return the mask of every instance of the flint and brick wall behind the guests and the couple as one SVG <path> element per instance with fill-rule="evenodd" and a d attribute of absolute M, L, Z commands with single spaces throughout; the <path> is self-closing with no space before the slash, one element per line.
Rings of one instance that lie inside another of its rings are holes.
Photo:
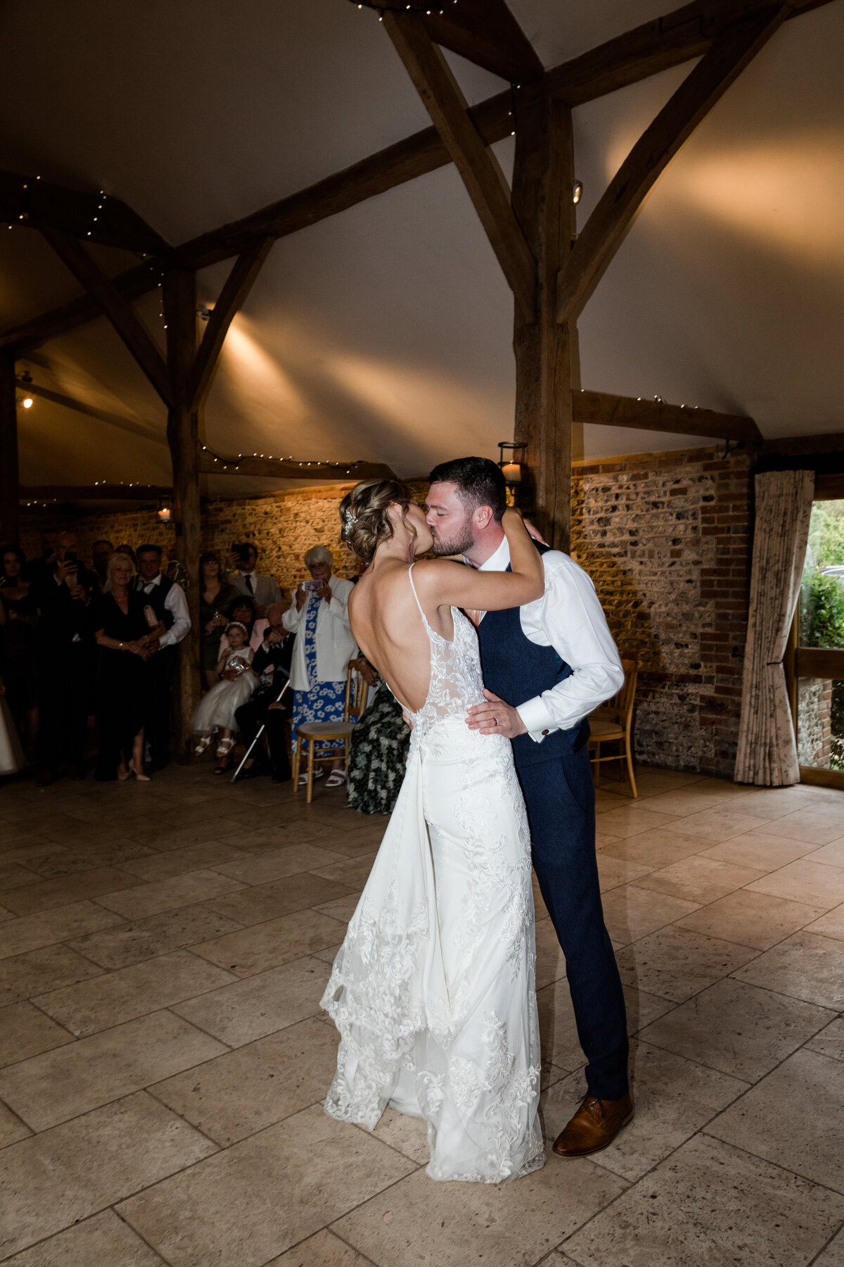
<path fill-rule="evenodd" d="M 636 754 L 673 769 L 731 777 L 742 693 L 749 584 L 750 459 L 720 447 L 578 464 L 572 554 L 595 580 L 623 655 L 639 661 Z M 285 588 L 304 574 L 302 554 L 328 545 L 340 575 L 354 561 L 339 545 L 338 502 L 348 487 L 302 489 L 202 509 L 204 549 L 232 541 L 261 550 L 259 569 Z M 425 485 L 416 495 L 424 497 Z M 24 508 L 23 545 L 37 552 L 51 508 Z M 42 519 L 40 516 L 47 516 Z M 105 536 L 167 549 L 173 530 L 154 511 L 82 516 L 82 557 Z"/>

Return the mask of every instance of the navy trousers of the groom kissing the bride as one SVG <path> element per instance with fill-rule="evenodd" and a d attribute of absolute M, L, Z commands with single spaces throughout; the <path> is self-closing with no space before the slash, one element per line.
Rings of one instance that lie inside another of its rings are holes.
<path fill-rule="evenodd" d="M 601 907 L 588 749 L 526 765 L 519 779 L 537 879 L 566 955 L 588 1092 L 617 1100 L 628 1090 L 628 1021 Z"/>

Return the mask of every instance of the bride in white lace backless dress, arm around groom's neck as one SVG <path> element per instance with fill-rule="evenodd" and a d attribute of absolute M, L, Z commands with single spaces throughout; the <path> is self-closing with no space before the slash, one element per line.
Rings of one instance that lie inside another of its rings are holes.
<path fill-rule="evenodd" d="M 431 533 L 399 480 L 358 484 L 340 518 L 368 564 L 349 595 L 352 632 L 413 736 L 321 1001 L 340 1033 L 325 1110 L 369 1129 L 386 1105 L 423 1117 L 433 1180 L 514 1180 L 544 1162 L 530 839 L 509 740 L 466 725 L 483 683 L 458 608 L 531 602 L 542 559 L 506 511 L 510 573 L 414 563 Z"/>

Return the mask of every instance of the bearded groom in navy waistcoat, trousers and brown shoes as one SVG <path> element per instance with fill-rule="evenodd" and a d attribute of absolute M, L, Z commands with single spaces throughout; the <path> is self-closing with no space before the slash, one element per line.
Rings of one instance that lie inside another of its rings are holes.
<path fill-rule="evenodd" d="M 501 527 L 506 485 L 487 457 L 458 457 L 430 473 L 434 554 L 462 554 L 482 571 L 506 571 Z M 477 617 L 487 702 L 468 725 L 512 740 L 539 888 L 566 954 L 588 1093 L 557 1136 L 561 1157 L 585 1157 L 633 1116 L 621 981 L 604 925 L 595 858 L 595 793 L 587 715 L 624 682 L 592 582 L 545 546 L 545 593 L 525 607 Z"/>

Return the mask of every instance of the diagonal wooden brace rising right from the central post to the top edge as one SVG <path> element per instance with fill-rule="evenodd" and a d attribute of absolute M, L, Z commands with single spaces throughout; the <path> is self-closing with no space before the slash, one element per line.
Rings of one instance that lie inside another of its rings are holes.
<path fill-rule="evenodd" d="M 787 10 L 787 5 L 778 4 L 729 27 L 645 128 L 559 271 L 558 321 L 577 318 L 657 179 L 730 84 L 779 29 Z"/>

